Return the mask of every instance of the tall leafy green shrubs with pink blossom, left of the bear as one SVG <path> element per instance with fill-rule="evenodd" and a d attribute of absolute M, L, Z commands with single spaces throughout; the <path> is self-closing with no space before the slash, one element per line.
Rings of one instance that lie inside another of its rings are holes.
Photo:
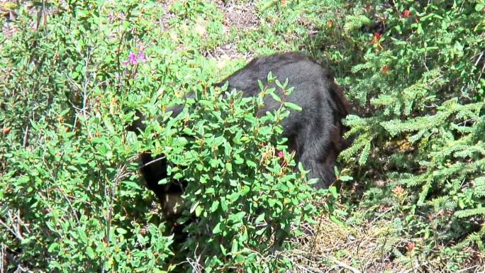
<path fill-rule="evenodd" d="M 133 116 L 123 114 L 136 99 L 127 94 L 135 70 L 150 72 L 123 65 L 127 46 L 157 33 L 133 14 L 160 10 L 138 1 L 45 4 L 19 6 L 9 22 L 16 32 L 0 38 L 6 270 L 167 271 L 172 239 L 129 171 L 136 147 L 124 124 Z M 33 27 L 35 9 L 45 16 Z"/>

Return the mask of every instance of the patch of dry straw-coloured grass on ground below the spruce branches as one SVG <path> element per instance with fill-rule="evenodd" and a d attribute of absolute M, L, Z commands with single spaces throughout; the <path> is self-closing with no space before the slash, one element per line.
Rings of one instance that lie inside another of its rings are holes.
<path fill-rule="evenodd" d="M 304 230 L 292 242 L 299 247 L 285 253 L 294 262 L 294 272 L 485 272 L 480 252 L 465 250 L 469 255 L 457 264 L 459 270 L 447 269 L 448 261 L 440 254 L 443 247 L 435 247 L 426 257 L 419 243 L 410 245 L 411 240 L 398 238 L 384 220 L 352 227 L 323 215 L 318 225 L 307 224 Z"/>

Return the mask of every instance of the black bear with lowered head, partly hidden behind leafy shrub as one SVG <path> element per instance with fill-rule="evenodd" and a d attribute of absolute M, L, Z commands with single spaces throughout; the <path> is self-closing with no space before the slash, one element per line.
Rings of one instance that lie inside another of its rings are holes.
<path fill-rule="evenodd" d="M 288 139 L 289 150 L 294 150 L 296 160 L 310 170 L 308 179 L 318 178 L 313 184 L 317 189 L 327 188 L 335 179 L 333 165 L 338 153 L 346 146 L 342 138 L 345 126 L 342 118 L 350 112 L 350 105 L 342 93 L 342 88 L 334 82 L 332 74 L 316 62 L 309 60 L 298 52 L 282 53 L 257 57 L 242 69 L 224 79 L 216 86 L 221 87 L 226 82 L 228 90 L 243 91 L 243 96 L 256 96 L 260 93 L 257 80 L 267 85 L 267 75 L 272 72 L 280 81 L 289 79 L 288 87 L 294 87 L 289 96 L 279 96 L 299 105 L 301 111 L 291 111 L 281 123 L 284 128 L 283 137 Z M 274 87 L 269 84 L 268 87 Z M 191 96 L 191 95 L 189 95 Z M 271 96 L 264 101 L 264 112 L 279 107 L 279 103 Z M 173 116 L 182 111 L 182 106 L 169 109 Z M 143 118 L 132 126 L 132 130 L 143 129 Z M 174 207 L 180 202 L 184 191 L 184 182 L 158 184 L 160 179 L 167 177 L 167 160 L 165 157 L 152 158 L 149 153 L 140 155 L 143 167 L 141 172 L 148 189 L 157 194 L 165 212 L 165 216 L 177 214 Z"/>

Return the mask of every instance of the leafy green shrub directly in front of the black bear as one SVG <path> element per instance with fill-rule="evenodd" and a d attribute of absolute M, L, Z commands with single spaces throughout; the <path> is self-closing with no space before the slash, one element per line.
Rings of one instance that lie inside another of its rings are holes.
<path fill-rule="evenodd" d="M 269 74 L 268 82 L 275 81 L 286 94 L 291 91 Z M 202 259 L 206 272 L 288 269 L 289 261 L 277 250 L 291 247 L 282 245 L 284 239 L 300 233 L 299 225 L 316 211 L 306 179 L 292 170 L 293 154 L 278 141 L 279 122 L 287 108 L 298 106 L 282 101 L 276 111 L 256 118 L 264 96 L 281 100 L 274 88 L 260 84 L 262 93 L 255 98 L 196 88 L 201 91 L 186 99 L 182 113 L 165 118 L 162 126 L 152 121 L 142 133 L 143 143 L 161 147 L 158 152 L 172 162 L 169 174 L 189 182 L 179 222 L 192 213 L 198 220 L 186 228 L 182 257 Z"/>

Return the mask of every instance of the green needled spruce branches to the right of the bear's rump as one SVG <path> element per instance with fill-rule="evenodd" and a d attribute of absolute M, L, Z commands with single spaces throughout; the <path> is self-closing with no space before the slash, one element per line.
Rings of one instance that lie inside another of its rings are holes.
<path fill-rule="evenodd" d="M 483 252 L 484 4 L 324 2 L 330 11 L 306 11 L 318 18 L 313 47 L 326 48 L 318 54 L 357 108 L 342 158 L 367 189 L 385 182 L 359 206 L 393 206 L 388 216 L 403 220 L 403 237 L 424 240 L 425 255 L 451 242 L 455 255 Z"/>

